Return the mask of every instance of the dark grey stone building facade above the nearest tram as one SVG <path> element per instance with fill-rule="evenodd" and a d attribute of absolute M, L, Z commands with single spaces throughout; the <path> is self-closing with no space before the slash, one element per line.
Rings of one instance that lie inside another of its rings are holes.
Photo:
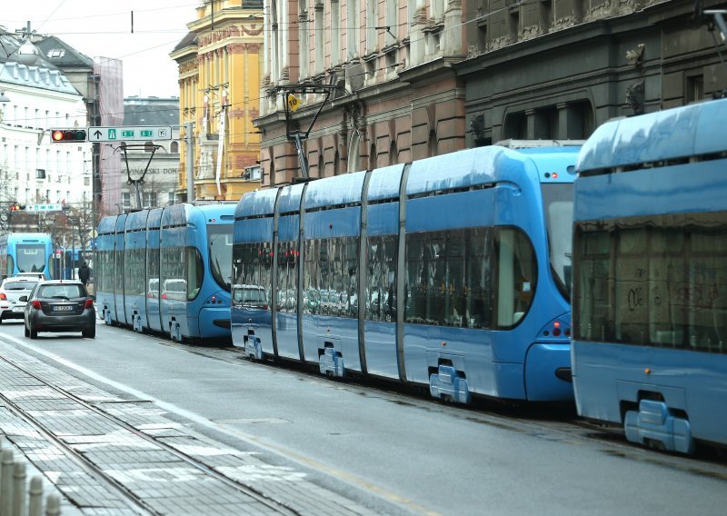
<path fill-rule="evenodd" d="M 454 65 L 466 81 L 467 146 L 583 139 L 613 117 L 721 92 L 727 70 L 708 30 L 713 20 L 694 9 L 711 4 L 467 3 L 469 52 Z"/>

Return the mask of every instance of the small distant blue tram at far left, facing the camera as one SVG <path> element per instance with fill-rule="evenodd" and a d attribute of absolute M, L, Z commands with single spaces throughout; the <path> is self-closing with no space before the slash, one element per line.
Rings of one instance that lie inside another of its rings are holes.
<path fill-rule="evenodd" d="M 53 256 L 47 233 L 6 233 L 0 235 L 0 281 L 17 273 L 44 273 L 51 277 Z"/>

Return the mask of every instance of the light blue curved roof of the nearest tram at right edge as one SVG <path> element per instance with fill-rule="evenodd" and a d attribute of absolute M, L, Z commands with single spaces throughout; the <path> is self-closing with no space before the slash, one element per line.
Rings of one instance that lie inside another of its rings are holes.
<path fill-rule="evenodd" d="M 727 99 L 607 122 L 583 144 L 576 170 L 580 173 L 724 152 L 727 140 L 720 128 L 725 119 Z"/>

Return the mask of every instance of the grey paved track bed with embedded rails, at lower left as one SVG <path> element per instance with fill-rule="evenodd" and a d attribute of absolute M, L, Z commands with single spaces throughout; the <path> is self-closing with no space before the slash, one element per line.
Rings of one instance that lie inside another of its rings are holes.
<path fill-rule="evenodd" d="M 214 442 L 151 402 L 99 390 L 2 337 L 0 432 L 15 460 L 27 461 L 27 478 L 43 475 L 44 500 L 52 492 L 61 497 L 64 515 L 376 513 L 308 481 L 303 470 L 261 460 L 266 452 Z"/>

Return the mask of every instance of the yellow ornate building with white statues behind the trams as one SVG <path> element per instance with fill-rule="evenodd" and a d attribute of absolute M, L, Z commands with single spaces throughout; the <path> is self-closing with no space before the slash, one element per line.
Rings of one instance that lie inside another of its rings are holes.
<path fill-rule="evenodd" d="M 204 0 L 170 54 L 179 65 L 178 198 L 187 198 L 190 151 L 196 200 L 237 201 L 260 187 L 260 134 L 253 120 L 259 114 L 262 4 Z"/>

